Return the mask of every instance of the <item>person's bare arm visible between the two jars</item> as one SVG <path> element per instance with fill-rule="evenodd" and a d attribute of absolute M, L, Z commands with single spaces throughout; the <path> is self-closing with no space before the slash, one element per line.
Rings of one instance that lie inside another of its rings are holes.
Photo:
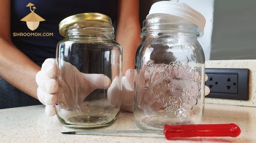
<path fill-rule="evenodd" d="M 122 71 L 134 69 L 135 53 L 140 43 L 139 1 L 119 0 L 116 40 L 122 45 Z"/>

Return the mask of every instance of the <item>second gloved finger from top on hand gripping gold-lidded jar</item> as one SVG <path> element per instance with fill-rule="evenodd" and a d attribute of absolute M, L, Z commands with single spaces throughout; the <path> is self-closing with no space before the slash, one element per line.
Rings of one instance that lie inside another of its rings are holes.
<path fill-rule="evenodd" d="M 42 71 L 36 74 L 36 83 L 38 86 L 49 94 L 54 94 L 58 91 L 58 82 L 54 78 L 46 76 Z"/>

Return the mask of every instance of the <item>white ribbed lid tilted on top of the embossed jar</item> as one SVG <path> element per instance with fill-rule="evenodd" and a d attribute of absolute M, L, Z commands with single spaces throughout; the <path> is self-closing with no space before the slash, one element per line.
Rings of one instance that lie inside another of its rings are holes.
<path fill-rule="evenodd" d="M 199 28 L 198 32 L 200 37 L 203 36 L 205 18 L 201 13 L 189 7 L 188 5 L 177 2 L 160 1 L 151 6 L 150 12 L 146 16 L 146 19 L 162 16 L 163 14 L 176 16 L 196 24 Z"/>

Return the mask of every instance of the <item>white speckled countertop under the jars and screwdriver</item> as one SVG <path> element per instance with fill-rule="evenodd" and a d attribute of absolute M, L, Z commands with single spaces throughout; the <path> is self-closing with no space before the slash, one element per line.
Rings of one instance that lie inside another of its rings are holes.
<path fill-rule="evenodd" d="M 203 124 L 236 123 L 242 132 L 236 138 L 175 138 L 166 140 L 164 135 L 66 135 L 56 116 L 47 117 L 44 106 L 27 106 L 0 110 L 0 142 L 256 142 L 256 107 L 206 104 Z M 110 127 L 98 130 L 138 130 L 133 114 L 121 112 Z"/>

